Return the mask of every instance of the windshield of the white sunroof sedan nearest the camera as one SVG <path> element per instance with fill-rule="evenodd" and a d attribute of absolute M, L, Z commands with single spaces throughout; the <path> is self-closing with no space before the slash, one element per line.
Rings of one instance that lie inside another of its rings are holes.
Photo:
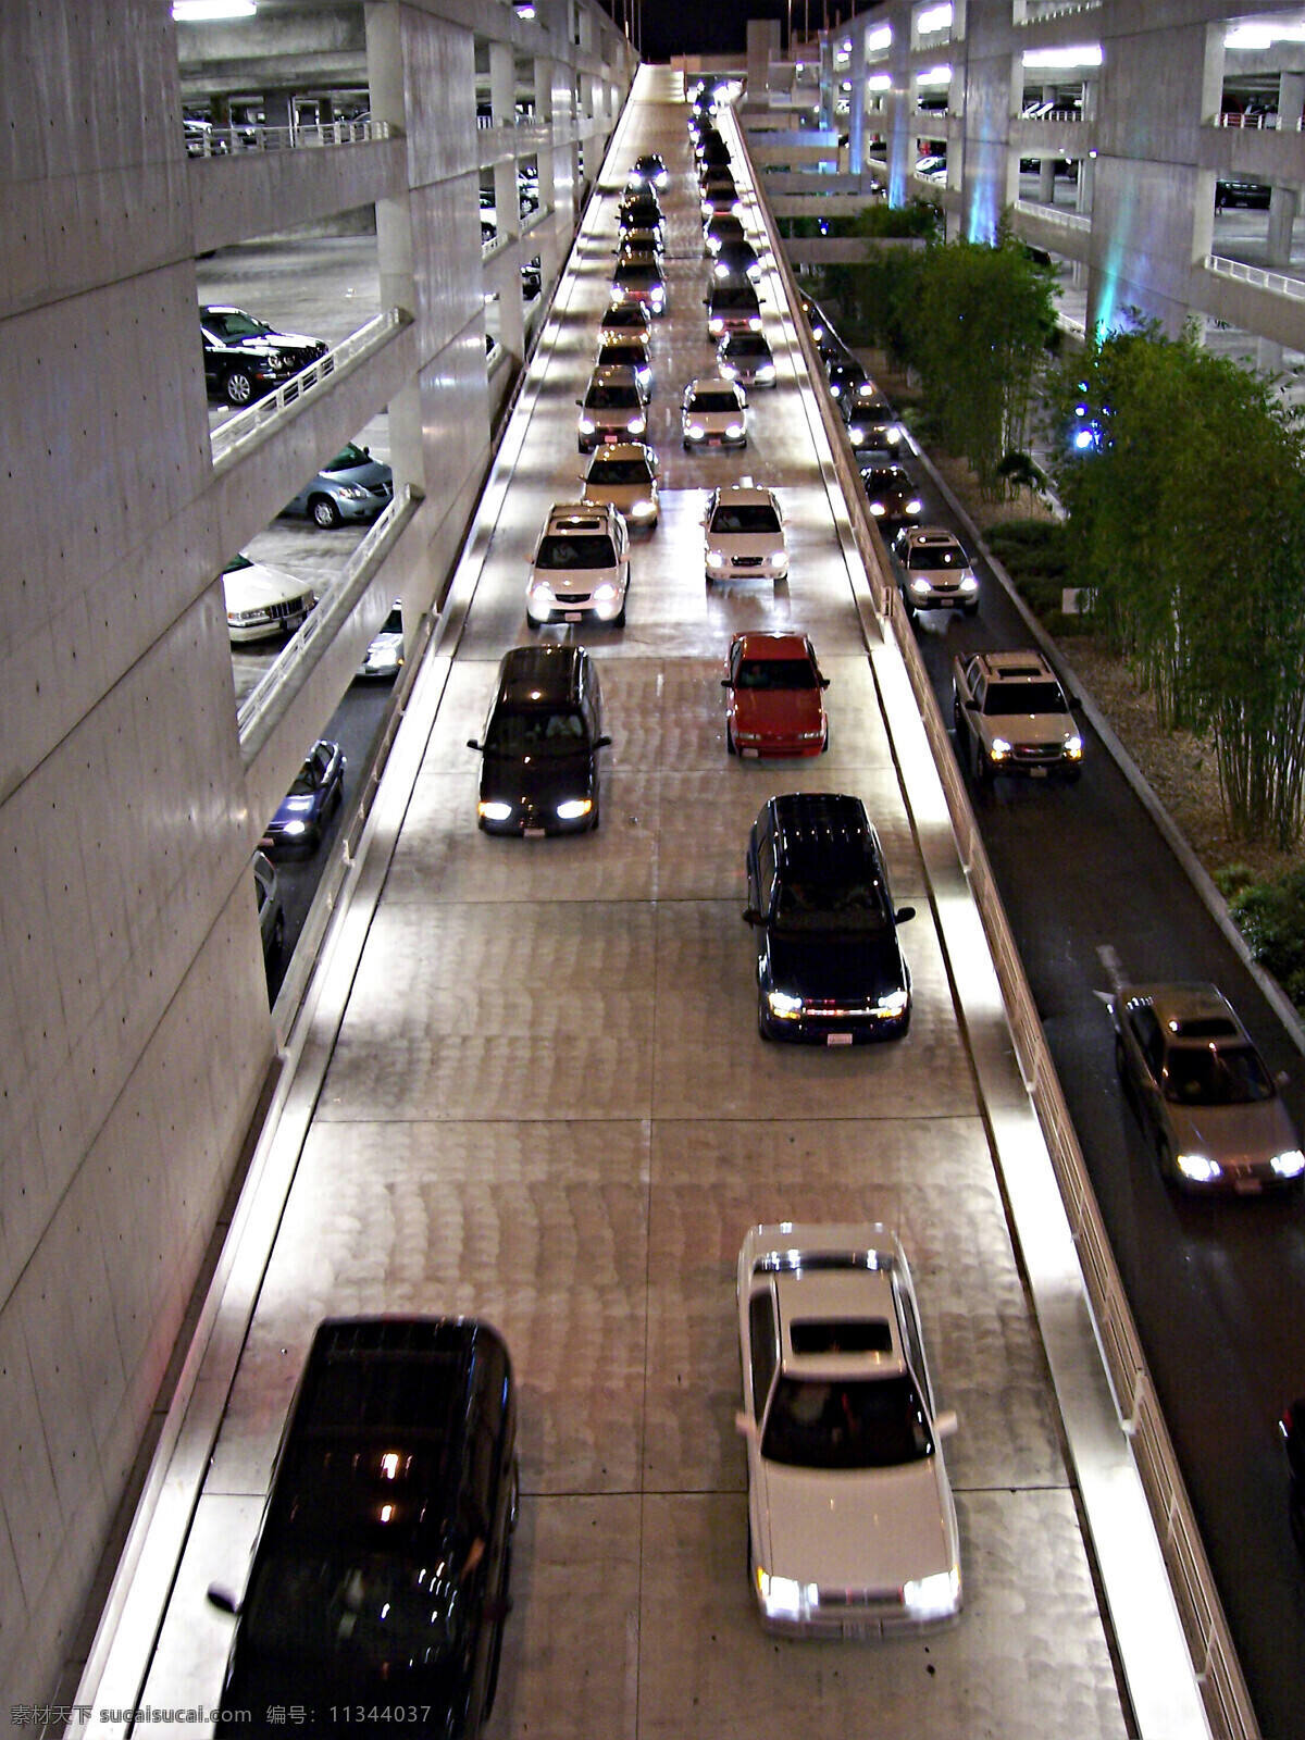
<path fill-rule="evenodd" d="M 933 1434 L 908 1373 L 847 1383 L 780 1378 L 762 1456 L 790 1469 L 896 1469 L 933 1455 Z"/>

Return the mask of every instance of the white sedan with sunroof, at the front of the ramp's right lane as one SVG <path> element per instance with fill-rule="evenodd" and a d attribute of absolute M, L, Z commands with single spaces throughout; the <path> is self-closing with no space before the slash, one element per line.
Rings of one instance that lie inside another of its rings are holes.
<path fill-rule="evenodd" d="M 873 1637 L 960 1611 L 960 1536 L 898 1239 L 753 1227 L 738 1258 L 748 1582 L 769 1632 Z"/>

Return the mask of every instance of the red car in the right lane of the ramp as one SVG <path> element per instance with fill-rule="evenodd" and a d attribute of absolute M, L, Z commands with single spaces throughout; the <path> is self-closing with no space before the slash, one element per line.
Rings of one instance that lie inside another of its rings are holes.
<path fill-rule="evenodd" d="M 726 748 L 731 755 L 821 755 L 830 746 L 825 689 L 807 635 L 746 630 L 729 644 Z"/>

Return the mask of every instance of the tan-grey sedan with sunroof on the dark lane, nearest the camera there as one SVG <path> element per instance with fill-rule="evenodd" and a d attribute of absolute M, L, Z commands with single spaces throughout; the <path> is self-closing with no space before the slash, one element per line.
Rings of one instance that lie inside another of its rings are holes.
<path fill-rule="evenodd" d="M 1300 1183 L 1291 1114 L 1215 985 L 1128 985 L 1110 1020 L 1115 1068 L 1166 1181 L 1237 1195 Z"/>

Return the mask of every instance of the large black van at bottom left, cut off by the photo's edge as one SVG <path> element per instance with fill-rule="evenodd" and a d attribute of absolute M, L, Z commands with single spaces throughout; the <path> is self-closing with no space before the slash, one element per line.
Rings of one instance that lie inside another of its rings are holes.
<path fill-rule="evenodd" d="M 517 1522 L 517 1397 L 489 1324 L 318 1324 L 226 1662 L 219 1731 L 475 1740 L 489 1716 Z M 235 1712 L 242 1712 L 237 1719 Z"/>

